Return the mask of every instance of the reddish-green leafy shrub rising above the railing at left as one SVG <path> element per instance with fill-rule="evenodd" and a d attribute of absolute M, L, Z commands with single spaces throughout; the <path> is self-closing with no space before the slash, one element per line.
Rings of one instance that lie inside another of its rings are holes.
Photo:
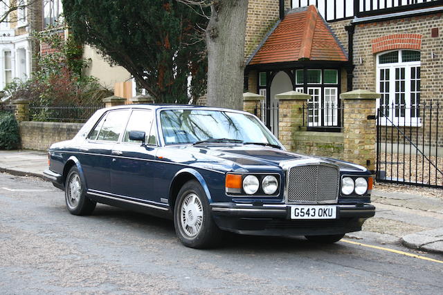
<path fill-rule="evenodd" d="M 65 40 L 57 30 L 35 33 L 53 49 L 37 58 L 39 70 L 26 81 L 15 79 L 4 91 L 12 100 L 28 99 L 31 105 L 84 106 L 101 104 L 112 93 L 100 86 L 95 77 L 82 75 L 87 61 L 82 46 L 70 36 Z"/>

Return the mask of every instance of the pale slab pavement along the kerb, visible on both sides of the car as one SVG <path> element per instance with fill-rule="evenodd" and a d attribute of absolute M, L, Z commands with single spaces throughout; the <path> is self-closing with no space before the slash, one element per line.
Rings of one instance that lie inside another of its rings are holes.
<path fill-rule="evenodd" d="M 0 151 L 0 172 L 44 178 L 48 155 L 41 151 Z M 377 187 L 377 185 L 376 185 Z M 402 244 L 410 249 L 443 254 L 443 198 L 374 189 L 374 218 L 363 225 L 363 231 L 347 238 L 374 238 L 383 244 Z M 439 191 L 440 193 L 440 191 Z M 442 191 L 443 194 L 443 191 Z"/>

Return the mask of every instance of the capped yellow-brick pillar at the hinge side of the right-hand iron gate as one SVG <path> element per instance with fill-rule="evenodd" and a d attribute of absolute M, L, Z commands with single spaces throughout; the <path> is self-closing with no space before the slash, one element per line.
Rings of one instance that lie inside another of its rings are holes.
<path fill-rule="evenodd" d="M 343 159 L 375 171 L 376 99 L 380 95 L 358 89 L 342 93 L 340 97 L 343 99 Z"/>

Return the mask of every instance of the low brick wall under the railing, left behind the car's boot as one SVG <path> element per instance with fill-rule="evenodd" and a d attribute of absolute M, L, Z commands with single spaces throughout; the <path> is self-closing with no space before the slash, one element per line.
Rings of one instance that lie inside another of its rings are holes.
<path fill-rule="evenodd" d="M 20 122 L 21 148 L 48 151 L 54 142 L 73 139 L 82 126 L 80 123 Z"/>

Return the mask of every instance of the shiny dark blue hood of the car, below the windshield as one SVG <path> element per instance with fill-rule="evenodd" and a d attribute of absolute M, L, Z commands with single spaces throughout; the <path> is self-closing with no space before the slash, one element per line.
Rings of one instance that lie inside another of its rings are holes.
<path fill-rule="evenodd" d="M 275 149 L 269 146 L 257 145 L 235 145 L 232 146 L 217 146 L 217 145 L 201 145 L 188 146 L 191 152 L 205 154 L 213 158 L 221 158 L 234 162 L 239 167 L 249 169 L 258 166 L 292 166 L 294 164 L 313 164 L 318 162 L 334 164 L 339 166 L 342 171 L 366 171 L 365 167 L 336 160 L 332 158 L 302 155 L 300 153 L 292 153 L 281 149 Z"/>

